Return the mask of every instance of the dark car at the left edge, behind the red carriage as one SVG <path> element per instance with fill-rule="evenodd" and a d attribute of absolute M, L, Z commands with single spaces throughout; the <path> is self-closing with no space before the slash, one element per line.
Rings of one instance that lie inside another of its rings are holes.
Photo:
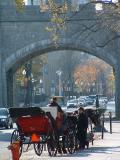
<path fill-rule="evenodd" d="M 0 108 L 0 127 L 13 128 L 13 121 L 7 108 Z"/>

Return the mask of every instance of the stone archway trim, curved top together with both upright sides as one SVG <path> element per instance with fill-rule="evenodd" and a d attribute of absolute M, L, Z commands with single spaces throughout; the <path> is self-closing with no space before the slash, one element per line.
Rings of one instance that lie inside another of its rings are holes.
<path fill-rule="evenodd" d="M 5 71 L 6 71 L 6 79 L 7 79 L 7 89 L 6 89 L 6 94 L 7 94 L 7 104 L 9 106 L 12 105 L 12 100 L 13 100 L 13 94 L 9 94 L 9 93 L 13 93 L 13 73 L 15 72 L 15 70 L 18 68 L 18 66 L 25 62 L 28 59 L 31 59 L 37 55 L 40 54 L 44 54 L 50 51 L 55 51 L 55 50 L 78 50 L 78 51 L 84 51 L 87 52 L 91 55 L 94 55 L 102 60 L 104 60 L 105 62 L 107 62 L 109 65 L 111 65 L 112 67 L 114 67 L 115 72 L 117 75 L 119 75 L 119 69 L 118 66 L 116 64 L 116 59 L 113 55 L 109 55 L 109 54 L 104 54 L 104 52 L 106 51 L 102 51 L 102 50 L 98 50 L 97 48 L 91 48 L 88 47 L 86 45 L 80 45 L 79 43 L 74 43 L 72 41 L 72 39 L 61 39 L 59 42 L 59 47 L 55 48 L 52 41 L 51 40 L 43 40 L 43 41 L 38 41 L 36 43 L 32 43 L 20 50 L 18 50 L 16 53 L 14 53 L 13 55 L 11 55 L 10 57 L 8 57 L 5 61 Z M 101 51 L 103 52 L 101 54 Z M 103 56 L 104 55 L 104 56 Z M 112 57 L 112 58 L 111 58 Z M 117 67 L 116 67 L 117 66 Z M 7 78 L 9 75 L 9 79 Z M 118 85 L 119 82 L 119 76 L 116 76 L 116 86 Z M 10 87 L 12 86 L 12 87 Z M 116 96 L 118 97 L 119 95 L 119 91 L 116 90 Z M 116 99 L 118 99 L 116 97 Z M 12 99 L 12 100 L 11 100 Z M 116 101 L 117 102 L 117 101 Z M 119 105 L 119 103 L 116 103 L 116 111 L 119 111 L 119 107 L 117 107 L 117 105 Z"/>

